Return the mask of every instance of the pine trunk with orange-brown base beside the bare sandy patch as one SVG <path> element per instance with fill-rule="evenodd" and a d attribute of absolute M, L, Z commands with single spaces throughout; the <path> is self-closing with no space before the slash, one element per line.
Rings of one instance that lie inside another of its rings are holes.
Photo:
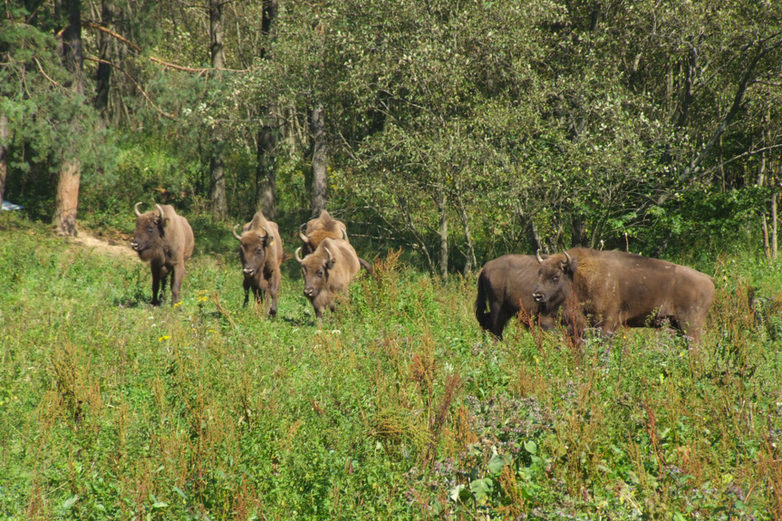
<path fill-rule="evenodd" d="M 82 94 L 82 2 L 65 0 L 58 10 L 68 17 L 60 44 L 60 59 L 65 69 L 71 72 L 68 86 Z M 63 159 L 57 181 L 57 196 L 54 200 L 54 225 L 63 235 L 76 235 L 76 211 L 79 207 L 79 184 L 82 180 L 82 161 L 77 158 Z"/>

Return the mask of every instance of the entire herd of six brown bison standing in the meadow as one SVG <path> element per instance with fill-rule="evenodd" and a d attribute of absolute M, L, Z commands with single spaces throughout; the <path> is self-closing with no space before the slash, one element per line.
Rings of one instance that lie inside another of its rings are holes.
<path fill-rule="evenodd" d="M 174 207 L 155 205 L 140 213 L 137 203 L 136 231 L 130 246 L 141 260 L 150 263 L 152 304 L 159 305 L 171 274 L 171 304 L 179 302 L 185 261 L 193 254 L 193 230 Z M 266 302 L 265 313 L 277 313 L 282 272 L 289 256 L 283 252 L 276 223 L 258 212 L 237 233 L 242 262 L 246 305 L 249 292 L 256 302 Z M 347 288 L 363 267 L 372 265 L 356 255 L 347 227 L 325 210 L 299 227 L 299 246 L 294 258 L 302 266 L 304 296 L 315 315 L 334 310 L 334 296 Z M 587 327 L 604 334 L 617 328 L 661 327 L 670 323 L 694 342 L 700 341 L 706 314 L 714 298 L 709 275 L 659 259 L 619 251 L 575 247 L 552 256 L 506 255 L 489 261 L 478 275 L 476 318 L 480 326 L 502 338 L 505 325 L 517 314 L 529 323 L 535 319 L 545 329 L 563 325 L 574 337 Z"/>

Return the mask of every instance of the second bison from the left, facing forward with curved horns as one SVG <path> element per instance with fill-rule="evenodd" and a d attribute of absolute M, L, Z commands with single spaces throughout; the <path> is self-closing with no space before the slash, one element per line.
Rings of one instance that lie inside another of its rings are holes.
<path fill-rule="evenodd" d="M 242 235 L 237 234 L 237 225 L 233 235 L 240 243 L 239 258 L 242 261 L 242 273 L 245 288 L 245 305 L 250 299 L 250 290 L 256 297 L 256 302 L 267 299 L 266 314 L 277 314 L 277 300 L 280 298 L 280 282 L 283 275 L 280 265 L 283 262 L 283 241 L 277 224 L 267 221 L 262 212 L 256 213 L 253 220 L 242 229 Z"/>

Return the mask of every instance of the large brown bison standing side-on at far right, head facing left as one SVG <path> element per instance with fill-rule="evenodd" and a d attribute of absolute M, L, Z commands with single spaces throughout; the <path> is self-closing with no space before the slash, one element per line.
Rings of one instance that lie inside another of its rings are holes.
<path fill-rule="evenodd" d="M 565 320 L 606 334 L 621 325 L 661 327 L 670 322 L 700 341 L 714 299 L 709 275 L 659 259 L 588 248 L 538 260 L 535 299 L 549 309 L 562 306 Z"/>

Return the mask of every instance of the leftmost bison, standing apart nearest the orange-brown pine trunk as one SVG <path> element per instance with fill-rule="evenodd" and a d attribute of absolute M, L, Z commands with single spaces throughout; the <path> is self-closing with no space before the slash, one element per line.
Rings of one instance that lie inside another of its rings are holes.
<path fill-rule="evenodd" d="M 152 305 L 159 305 L 158 291 L 165 291 L 171 275 L 171 304 L 179 302 L 179 288 L 185 276 L 185 261 L 193 255 L 193 230 L 188 219 L 170 205 L 155 205 L 157 211 L 141 213 L 136 203 L 136 231 L 130 247 L 152 271 Z M 160 283 L 162 282 L 162 286 Z"/>

